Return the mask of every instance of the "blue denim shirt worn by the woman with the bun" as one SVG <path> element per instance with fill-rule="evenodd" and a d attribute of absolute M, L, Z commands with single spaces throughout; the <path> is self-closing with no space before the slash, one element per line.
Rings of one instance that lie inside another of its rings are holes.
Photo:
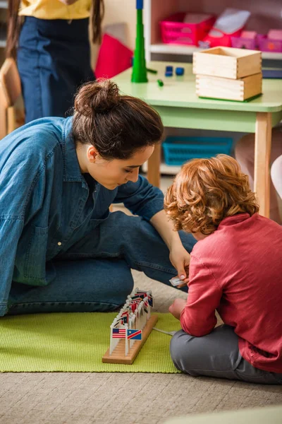
<path fill-rule="evenodd" d="M 30 122 L 0 141 L 0 316 L 11 282 L 47 285 L 51 259 L 109 216 L 112 203 L 150 220 L 164 196 L 147 179 L 90 190 L 78 164 L 72 117 Z"/>

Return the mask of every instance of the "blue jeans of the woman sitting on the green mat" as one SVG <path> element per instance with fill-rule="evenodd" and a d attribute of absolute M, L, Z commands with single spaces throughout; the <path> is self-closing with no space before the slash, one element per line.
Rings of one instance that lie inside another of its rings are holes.
<path fill-rule="evenodd" d="M 180 238 L 191 252 L 195 238 L 183 232 Z M 176 275 L 154 227 L 120 211 L 52 262 L 56 278 L 49 285 L 12 283 L 8 314 L 113 311 L 133 290 L 130 269 L 166 284 Z"/>

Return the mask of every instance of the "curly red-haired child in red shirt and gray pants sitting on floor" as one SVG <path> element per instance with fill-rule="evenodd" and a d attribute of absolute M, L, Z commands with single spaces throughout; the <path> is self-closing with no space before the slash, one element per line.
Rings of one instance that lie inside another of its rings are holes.
<path fill-rule="evenodd" d="M 176 230 L 192 232 L 187 302 L 169 308 L 178 370 L 282 384 L 282 228 L 259 216 L 248 177 L 227 155 L 186 163 L 165 197 Z M 223 325 L 216 326 L 219 312 Z"/>

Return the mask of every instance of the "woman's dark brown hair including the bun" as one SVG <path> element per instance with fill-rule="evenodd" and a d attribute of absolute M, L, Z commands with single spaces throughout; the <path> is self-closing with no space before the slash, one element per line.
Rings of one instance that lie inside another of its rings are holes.
<path fill-rule="evenodd" d="M 73 136 L 92 144 L 104 159 L 128 159 L 161 140 L 164 126 L 146 102 L 121 95 L 109 80 L 84 84 L 75 96 Z"/>

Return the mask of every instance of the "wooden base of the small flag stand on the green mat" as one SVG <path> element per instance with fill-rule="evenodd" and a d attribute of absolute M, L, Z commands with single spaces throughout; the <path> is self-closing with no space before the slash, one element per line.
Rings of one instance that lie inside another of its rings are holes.
<path fill-rule="evenodd" d="M 142 340 L 136 340 L 133 347 L 129 349 L 129 353 L 127 356 L 125 356 L 125 338 L 121 338 L 121 340 L 118 342 L 118 345 L 114 349 L 113 353 L 110 355 L 110 350 L 108 349 L 106 353 L 104 354 L 102 358 L 103 363 L 108 364 L 126 364 L 131 365 L 136 356 L 138 355 L 140 349 L 142 348 L 143 344 L 147 340 L 147 337 L 151 333 L 153 326 L 158 321 L 157 315 L 152 315 L 150 319 L 148 319 L 147 324 L 145 325 L 144 329 L 142 329 Z M 128 340 L 128 344 L 130 343 L 130 340 Z"/>

